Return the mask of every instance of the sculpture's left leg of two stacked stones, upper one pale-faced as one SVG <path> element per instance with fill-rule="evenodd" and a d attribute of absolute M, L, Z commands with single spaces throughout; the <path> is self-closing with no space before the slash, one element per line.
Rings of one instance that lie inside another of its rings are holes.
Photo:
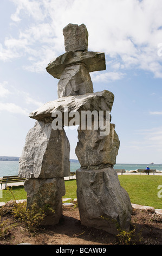
<path fill-rule="evenodd" d="M 43 225 L 59 222 L 62 215 L 64 176 L 69 176 L 70 145 L 64 130 L 53 130 L 51 123 L 36 121 L 26 137 L 20 157 L 19 176 L 27 178 L 27 209 L 34 203 L 47 210 Z"/>

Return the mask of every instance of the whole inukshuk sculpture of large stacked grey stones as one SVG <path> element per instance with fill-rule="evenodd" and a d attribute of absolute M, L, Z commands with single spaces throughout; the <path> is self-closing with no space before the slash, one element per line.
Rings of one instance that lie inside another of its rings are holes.
<path fill-rule="evenodd" d="M 63 126 L 73 125 L 73 122 L 70 124 L 72 115 L 68 120 L 65 118 L 68 112 L 79 113 L 77 122 L 75 119 L 75 125 L 80 125 L 75 153 L 81 164 L 76 170 L 81 223 L 116 234 L 118 226 L 129 230 L 132 208 L 113 169 L 120 144 L 115 125 L 109 123 L 109 133 L 103 135 L 101 126 L 95 127 L 95 118 L 91 120 L 91 129 L 88 126 L 82 128 L 80 118 L 83 112 L 95 111 L 99 117 L 102 111 L 107 124 L 105 113 L 111 112 L 114 95 L 108 90 L 93 93 L 89 75 L 89 72 L 106 69 L 105 54 L 88 52 L 88 32 L 83 24 L 69 24 L 63 28 L 63 35 L 66 53 L 46 68 L 49 74 L 60 79 L 57 87 L 59 99 L 47 102 L 29 115 L 36 119 L 36 123 L 28 132 L 19 170 L 19 175 L 27 178 L 24 184 L 27 207 L 34 202 L 40 207 L 49 204 L 55 212 L 48 213 L 44 224 L 59 222 L 61 198 L 65 193 L 63 177 L 70 172 L 70 146 Z M 64 109 L 68 109 L 67 112 Z M 63 117 L 57 130 L 53 129 L 55 112 L 62 113 Z"/>

